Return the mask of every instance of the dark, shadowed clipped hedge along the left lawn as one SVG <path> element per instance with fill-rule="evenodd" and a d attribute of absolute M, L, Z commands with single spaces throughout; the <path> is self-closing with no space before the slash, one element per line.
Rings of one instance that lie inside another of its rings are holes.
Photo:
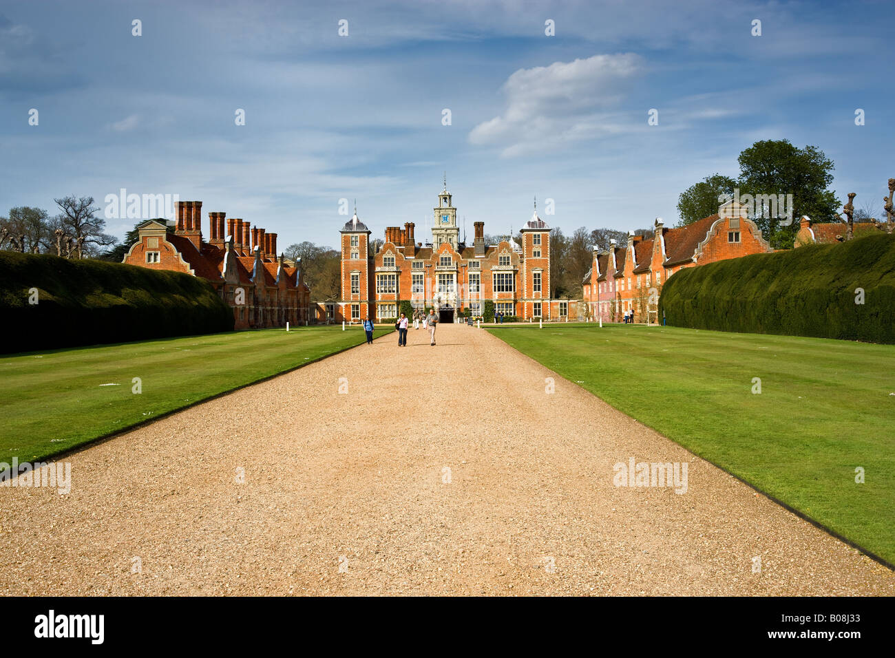
<path fill-rule="evenodd" d="M 29 303 L 37 288 L 36 304 Z M 0 353 L 229 331 L 233 311 L 188 274 L 0 252 Z"/>

